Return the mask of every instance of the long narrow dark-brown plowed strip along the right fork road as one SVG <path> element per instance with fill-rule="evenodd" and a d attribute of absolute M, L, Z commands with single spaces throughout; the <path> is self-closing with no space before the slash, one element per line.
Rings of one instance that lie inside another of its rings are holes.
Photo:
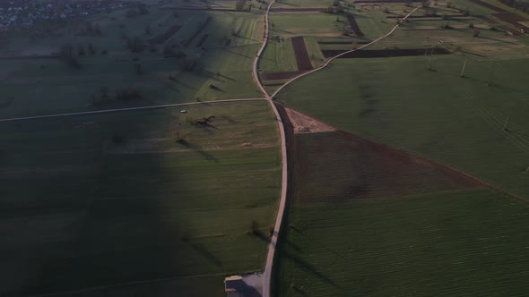
<path fill-rule="evenodd" d="M 373 49 L 373 50 L 358 50 L 346 55 L 342 55 L 340 59 L 344 58 L 386 58 L 394 56 L 410 56 L 410 55 L 425 55 L 428 50 L 428 55 L 448 55 L 451 54 L 444 48 L 434 48 L 433 53 L 431 49 L 427 48 L 406 48 L 406 49 Z M 323 49 L 322 54 L 326 58 L 340 55 L 346 50 L 343 49 Z M 431 54 L 430 54 L 431 53 Z"/>

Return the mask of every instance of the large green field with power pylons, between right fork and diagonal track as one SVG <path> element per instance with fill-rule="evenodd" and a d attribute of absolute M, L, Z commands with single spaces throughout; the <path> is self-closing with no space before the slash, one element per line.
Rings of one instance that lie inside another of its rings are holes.
<path fill-rule="evenodd" d="M 278 99 L 529 199 L 529 103 L 519 75 L 528 60 L 469 59 L 464 79 L 463 63 L 460 56 L 434 56 L 435 71 L 428 71 L 428 57 L 421 56 L 339 60 Z M 502 130 L 507 117 L 508 132 Z"/>

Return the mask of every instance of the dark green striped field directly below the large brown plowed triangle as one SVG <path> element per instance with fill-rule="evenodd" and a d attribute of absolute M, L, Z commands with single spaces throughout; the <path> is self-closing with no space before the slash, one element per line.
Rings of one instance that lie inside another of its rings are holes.
<path fill-rule="evenodd" d="M 528 216 L 488 190 L 295 203 L 277 295 L 526 295 Z"/>

